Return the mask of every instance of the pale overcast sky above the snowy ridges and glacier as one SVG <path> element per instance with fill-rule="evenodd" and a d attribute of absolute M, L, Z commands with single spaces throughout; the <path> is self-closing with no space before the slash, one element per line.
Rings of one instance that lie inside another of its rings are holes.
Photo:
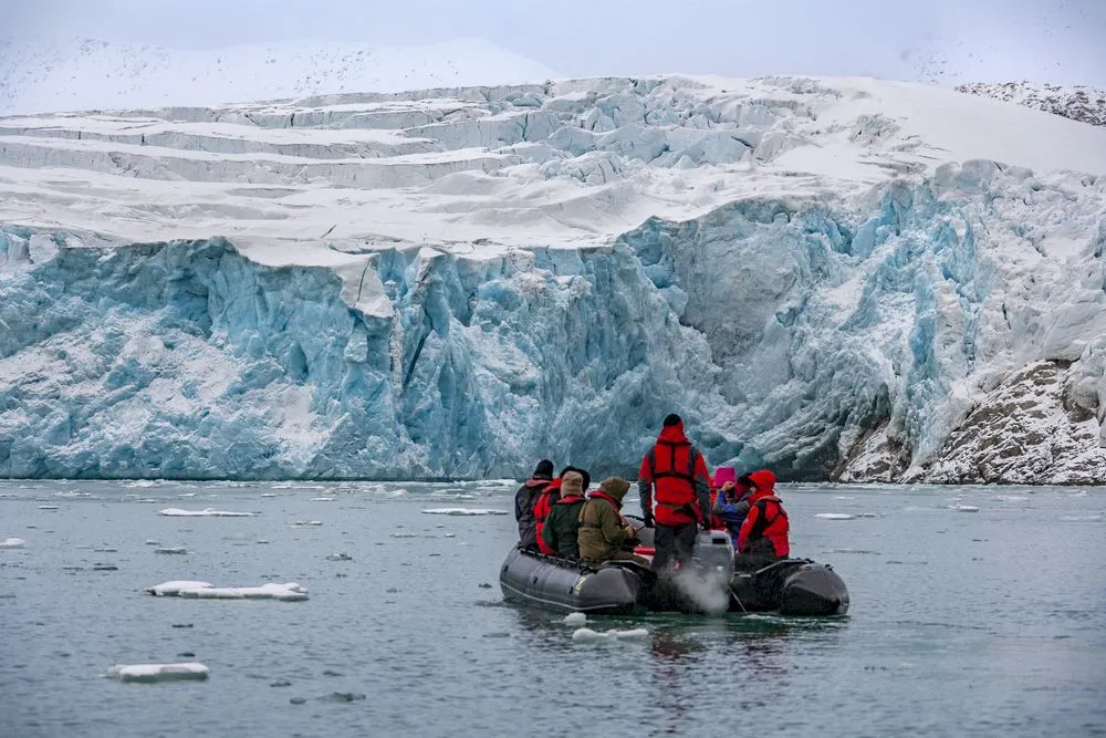
<path fill-rule="evenodd" d="M 560 74 L 868 74 L 1106 87 L 1106 0 L 0 0 L 0 34 L 180 48 L 482 38 Z"/>

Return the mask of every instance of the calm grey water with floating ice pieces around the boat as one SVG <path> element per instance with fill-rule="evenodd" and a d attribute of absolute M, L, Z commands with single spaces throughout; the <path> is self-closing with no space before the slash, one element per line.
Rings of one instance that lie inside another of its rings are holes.
<path fill-rule="evenodd" d="M 1102 489 L 785 486 L 793 551 L 835 565 L 847 617 L 593 619 L 648 630 L 597 644 L 503 604 L 510 516 L 422 512 L 509 510 L 512 491 L 2 482 L 0 540 L 27 545 L 0 550 L 0 736 L 1106 734 Z M 295 581 L 311 599 L 142 591 L 174 579 Z M 101 676 L 180 654 L 210 679 Z"/>

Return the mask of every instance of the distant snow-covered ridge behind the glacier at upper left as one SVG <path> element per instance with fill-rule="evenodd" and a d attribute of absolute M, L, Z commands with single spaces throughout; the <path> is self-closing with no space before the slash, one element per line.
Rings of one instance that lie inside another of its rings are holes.
<path fill-rule="evenodd" d="M 0 39 L 0 115 L 210 105 L 341 92 L 543 82 L 557 74 L 492 43 L 296 41 L 210 50 L 96 39 Z"/>

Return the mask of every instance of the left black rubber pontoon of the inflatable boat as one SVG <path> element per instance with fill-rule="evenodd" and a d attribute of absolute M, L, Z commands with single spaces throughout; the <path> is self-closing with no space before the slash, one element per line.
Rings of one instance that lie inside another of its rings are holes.
<path fill-rule="evenodd" d="M 512 549 L 499 572 L 503 599 L 562 612 L 626 615 L 638 605 L 648 569 L 627 561 L 608 561 L 598 568 L 538 552 Z"/>

